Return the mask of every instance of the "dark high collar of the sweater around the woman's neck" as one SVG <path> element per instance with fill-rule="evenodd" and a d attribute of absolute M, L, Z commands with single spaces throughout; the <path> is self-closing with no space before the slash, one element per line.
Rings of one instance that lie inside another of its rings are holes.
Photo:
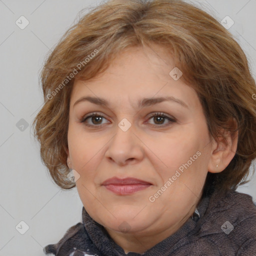
<path fill-rule="evenodd" d="M 100 251 L 102 255 L 158 256 L 164 255 L 164 252 L 170 251 L 174 249 L 174 247 L 182 246 L 182 243 L 185 242 L 185 239 L 182 238 L 186 237 L 187 234 L 195 228 L 197 220 L 204 215 L 208 206 L 208 202 L 209 197 L 203 197 L 197 204 L 196 210 L 192 216 L 189 217 L 187 221 L 174 234 L 157 243 L 143 254 L 135 252 L 129 252 L 125 254 L 124 250 L 109 236 L 105 228 L 90 217 L 84 206 L 82 207 L 82 222 L 94 246 Z"/>

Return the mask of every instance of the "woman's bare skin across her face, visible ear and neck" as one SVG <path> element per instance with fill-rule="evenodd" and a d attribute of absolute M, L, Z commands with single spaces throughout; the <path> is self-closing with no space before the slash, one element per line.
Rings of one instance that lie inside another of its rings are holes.
<path fill-rule="evenodd" d="M 237 137 L 229 136 L 228 143 L 210 137 L 196 92 L 169 75 L 174 66 L 171 56 L 158 45 L 153 51 L 151 47 L 129 47 L 103 73 L 73 84 L 68 166 L 80 175 L 76 187 L 86 211 L 125 253 L 142 253 L 177 231 L 194 212 L 207 172 L 222 171 L 236 151 Z M 142 97 L 166 95 L 182 100 L 187 107 L 174 101 L 137 105 Z M 102 97 L 109 105 L 80 101 L 73 106 L 83 96 Z M 81 122 L 93 112 L 103 118 Z M 149 116 L 157 112 L 176 121 L 160 119 L 161 114 Z M 127 131 L 118 127 L 123 118 L 131 124 Z M 200 156 L 151 202 L 149 197 L 197 151 Z M 101 185 L 113 176 L 135 177 L 152 185 L 117 195 Z"/>

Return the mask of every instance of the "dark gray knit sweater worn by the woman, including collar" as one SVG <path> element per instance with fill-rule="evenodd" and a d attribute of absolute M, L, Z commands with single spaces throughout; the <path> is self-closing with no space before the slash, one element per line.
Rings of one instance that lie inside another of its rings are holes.
<path fill-rule="evenodd" d="M 82 223 L 70 227 L 55 244 L 43 248 L 57 256 L 255 256 L 256 207 L 251 196 L 229 190 L 201 199 L 194 214 L 174 234 L 143 254 L 124 253 L 82 208 Z"/>

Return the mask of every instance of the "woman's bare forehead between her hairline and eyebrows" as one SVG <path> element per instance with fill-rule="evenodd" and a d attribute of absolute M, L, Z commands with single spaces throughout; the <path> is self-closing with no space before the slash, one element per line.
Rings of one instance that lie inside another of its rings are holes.
<path fill-rule="evenodd" d="M 196 92 L 181 79 L 173 79 L 174 67 L 173 58 L 164 47 L 126 48 L 103 73 L 89 80 L 74 81 L 70 105 L 83 95 L 115 102 L 169 95 L 181 98 L 188 105 L 198 104 Z"/>

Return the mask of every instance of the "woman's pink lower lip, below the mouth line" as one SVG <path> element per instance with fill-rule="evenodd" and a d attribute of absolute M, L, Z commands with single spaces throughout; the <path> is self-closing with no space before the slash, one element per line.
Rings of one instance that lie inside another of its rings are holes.
<path fill-rule="evenodd" d="M 106 189 L 116 194 L 131 194 L 149 187 L 151 184 L 104 185 Z"/>

